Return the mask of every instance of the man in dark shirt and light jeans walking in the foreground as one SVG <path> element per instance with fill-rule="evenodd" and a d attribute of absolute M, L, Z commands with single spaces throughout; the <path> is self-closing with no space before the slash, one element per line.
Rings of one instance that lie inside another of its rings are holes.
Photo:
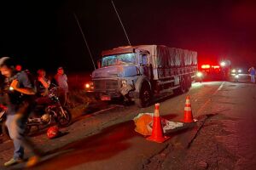
<path fill-rule="evenodd" d="M 14 60 L 9 57 L 0 59 L 0 71 L 5 77 L 4 99 L 7 104 L 6 126 L 9 136 L 15 145 L 14 156 L 4 163 L 8 167 L 15 165 L 24 158 L 24 146 L 32 150 L 34 156 L 26 162 L 26 167 L 32 167 L 39 161 L 39 151 L 25 137 L 26 120 L 32 111 L 32 99 L 35 94 L 32 82 L 25 71 L 15 71 Z"/>

